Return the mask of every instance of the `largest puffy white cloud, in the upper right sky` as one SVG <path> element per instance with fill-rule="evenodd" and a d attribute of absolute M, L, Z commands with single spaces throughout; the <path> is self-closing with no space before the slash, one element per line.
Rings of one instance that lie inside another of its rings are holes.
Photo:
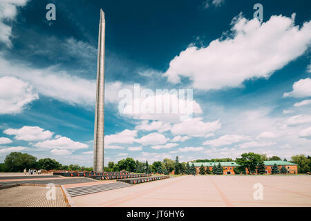
<path fill-rule="evenodd" d="M 240 15 L 232 24 L 232 38 L 187 48 L 171 60 L 164 76 L 173 83 L 189 77 L 202 90 L 238 87 L 247 79 L 270 77 L 310 46 L 311 21 L 294 26 L 294 15 L 272 16 L 264 23 Z"/>

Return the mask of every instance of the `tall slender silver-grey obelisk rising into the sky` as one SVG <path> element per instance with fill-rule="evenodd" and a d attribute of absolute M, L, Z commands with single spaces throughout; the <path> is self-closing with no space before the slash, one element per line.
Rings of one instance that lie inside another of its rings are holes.
<path fill-rule="evenodd" d="M 100 10 L 100 31 L 97 51 L 97 84 L 94 126 L 93 171 L 104 170 L 104 62 L 105 62 L 105 15 Z"/>

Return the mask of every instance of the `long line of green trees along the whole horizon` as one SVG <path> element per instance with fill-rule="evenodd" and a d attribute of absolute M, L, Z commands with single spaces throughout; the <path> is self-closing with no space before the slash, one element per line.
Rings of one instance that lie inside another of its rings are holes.
<path fill-rule="evenodd" d="M 291 157 L 291 161 L 298 164 L 298 173 L 311 172 L 311 156 L 306 157 L 305 155 L 294 155 Z M 241 165 L 234 168 L 234 173 L 250 173 L 259 174 L 265 173 L 265 160 L 281 160 L 278 156 L 267 157 L 265 154 L 256 153 L 243 153 L 241 157 L 236 158 L 236 163 Z M 200 166 L 200 174 L 223 174 L 223 167 L 220 166 L 219 162 L 234 161 L 231 158 L 220 158 L 211 160 L 195 160 L 193 162 L 218 162 L 211 170 L 207 168 L 204 170 L 204 166 Z M 284 161 L 287 161 L 284 159 Z M 78 164 L 62 165 L 54 159 L 44 158 L 37 160 L 37 157 L 29 155 L 27 153 L 12 152 L 6 156 L 3 164 L 0 164 L 0 172 L 21 172 L 23 169 L 44 169 L 44 170 L 63 170 L 63 171 L 92 171 L 92 167 L 79 166 Z M 204 170 L 204 171 L 203 171 Z M 174 174 L 194 174 L 196 168 L 194 164 L 189 162 L 180 162 L 179 157 L 176 160 L 165 158 L 162 161 L 155 161 L 149 164 L 148 161 L 140 162 L 134 160 L 131 157 L 120 160 L 117 163 L 109 162 L 108 166 L 104 167 L 104 171 L 128 171 L 132 173 L 160 173 L 169 174 L 174 171 Z M 286 170 L 287 171 L 287 170 Z M 277 166 L 272 167 L 272 173 L 285 173 L 285 167 L 279 169 Z"/>

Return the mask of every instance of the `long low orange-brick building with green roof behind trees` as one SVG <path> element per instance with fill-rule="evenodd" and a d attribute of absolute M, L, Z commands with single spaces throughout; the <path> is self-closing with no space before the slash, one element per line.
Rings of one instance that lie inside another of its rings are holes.
<path fill-rule="evenodd" d="M 236 166 L 240 166 L 236 162 L 219 162 L 221 166 L 223 166 L 223 174 L 235 174 L 234 168 Z M 194 164 L 196 167 L 196 174 L 199 174 L 200 172 L 200 166 L 203 164 L 205 170 L 207 169 L 207 166 L 209 167 L 209 170 L 212 171 L 213 166 L 216 164 L 216 166 L 219 164 L 218 162 L 206 162 L 206 163 L 193 163 L 189 162 L 190 166 Z M 265 171 L 267 174 L 271 174 L 272 166 L 276 164 L 276 166 L 279 167 L 279 170 L 281 170 L 282 166 L 285 166 L 285 168 L 288 170 L 288 173 L 296 174 L 297 173 L 297 164 L 286 162 L 282 160 L 271 160 L 271 161 L 264 161 L 265 164 Z"/>

